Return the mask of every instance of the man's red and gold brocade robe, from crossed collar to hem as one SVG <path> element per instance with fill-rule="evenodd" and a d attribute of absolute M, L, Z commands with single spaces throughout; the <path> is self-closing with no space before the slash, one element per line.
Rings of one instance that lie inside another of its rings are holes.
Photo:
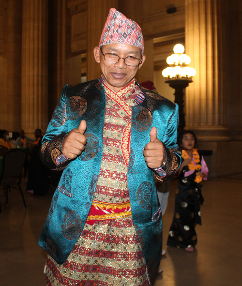
<path fill-rule="evenodd" d="M 138 93 L 133 81 L 117 93 L 105 86 L 103 157 L 92 209 L 126 209 L 99 220 L 91 211 L 76 245 L 63 265 L 48 256 L 48 286 L 150 286 L 142 248 L 130 211 L 127 169 L 131 106 Z M 109 219 L 108 219 L 109 218 Z M 92 220 L 92 225 L 88 224 Z M 99 221 L 98 221 L 99 220 Z"/>

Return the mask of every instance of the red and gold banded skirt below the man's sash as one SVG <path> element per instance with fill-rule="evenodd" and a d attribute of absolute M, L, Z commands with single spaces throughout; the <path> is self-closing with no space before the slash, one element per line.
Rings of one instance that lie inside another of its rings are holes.
<path fill-rule="evenodd" d="M 60 265 L 46 260 L 47 286 L 150 286 L 132 217 L 85 224 Z"/>

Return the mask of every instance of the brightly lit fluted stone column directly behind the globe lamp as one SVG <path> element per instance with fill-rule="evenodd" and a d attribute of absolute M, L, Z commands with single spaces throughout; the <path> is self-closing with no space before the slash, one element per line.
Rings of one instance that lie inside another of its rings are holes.
<path fill-rule="evenodd" d="M 205 139 L 227 139 L 222 90 L 220 1 L 185 0 L 185 53 L 196 69 L 186 89 L 186 129 Z"/>

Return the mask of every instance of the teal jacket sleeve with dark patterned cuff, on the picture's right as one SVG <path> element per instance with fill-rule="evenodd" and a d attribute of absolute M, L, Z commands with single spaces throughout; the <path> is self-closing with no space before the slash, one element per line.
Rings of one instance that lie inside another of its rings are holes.
<path fill-rule="evenodd" d="M 175 105 L 171 115 L 166 133 L 162 139 L 166 151 L 166 162 L 162 165 L 163 172 L 154 170 L 154 177 L 157 181 L 170 181 L 178 171 L 181 164 L 181 149 L 177 145 L 177 128 L 179 125 L 178 105 Z"/>

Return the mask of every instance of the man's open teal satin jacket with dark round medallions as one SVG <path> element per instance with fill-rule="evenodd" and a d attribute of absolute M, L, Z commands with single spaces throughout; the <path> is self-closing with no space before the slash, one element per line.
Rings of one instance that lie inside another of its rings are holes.
<path fill-rule="evenodd" d="M 131 150 L 128 186 L 131 210 L 142 246 L 151 284 L 154 283 L 162 251 L 162 215 L 154 177 L 172 179 L 180 166 L 181 151 L 176 145 L 178 106 L 151 90 L 141 88 L 145 99 L 132 107 Z M 71 253 L 88 217 L 103 155 L 103 126 L 106 94 L 98 79 L 74 86 L 66 85 L 42 140 L 41 159 L 53 170 L 63 170 L 53 196 L 39 245 L 57 263 Z M 74 160 L 63 160 L 61 143 L 65 135 L 86 120 L 86 149 Z M 164 143 L 166 177 L 150 169 L 143 148 L 150 142 L 150 130 Z M 58 157 L 59 156 L 59 157 Z M 60 162 L 59 162 L 60 163 Z"/>

